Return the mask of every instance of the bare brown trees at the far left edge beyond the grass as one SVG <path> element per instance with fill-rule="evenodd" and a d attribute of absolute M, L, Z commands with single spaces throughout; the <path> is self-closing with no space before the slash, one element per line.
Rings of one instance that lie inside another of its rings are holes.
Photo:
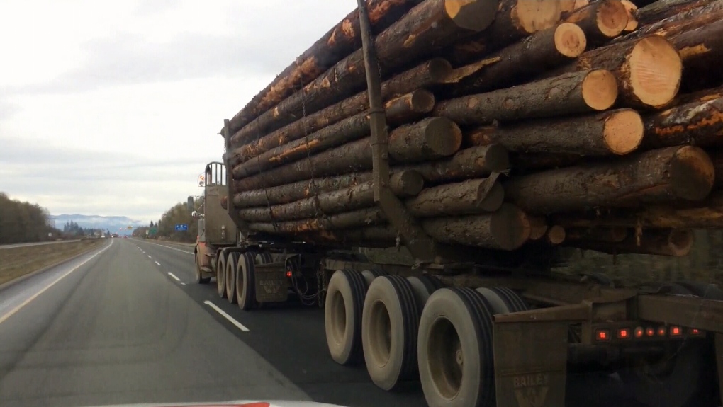
<path fill-rule="evenodd" d="M 47 209 L 37 203 L 10 199 L 0 192 L 0 245 L 43 242 L 61 235 L 61 231 L 53 227 Z"/>

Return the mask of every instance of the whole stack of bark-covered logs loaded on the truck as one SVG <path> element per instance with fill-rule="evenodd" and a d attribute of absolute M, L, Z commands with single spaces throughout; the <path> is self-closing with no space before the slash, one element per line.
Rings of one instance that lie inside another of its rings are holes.
<path fill-rule="evenodd" d="M 367 4 L 389 186 L 432 239 L 685 255 L 723 227 L 723 0 Z M 229 121 L 250 230 L 400 244 L 366 86 L 355 10 Z"/>

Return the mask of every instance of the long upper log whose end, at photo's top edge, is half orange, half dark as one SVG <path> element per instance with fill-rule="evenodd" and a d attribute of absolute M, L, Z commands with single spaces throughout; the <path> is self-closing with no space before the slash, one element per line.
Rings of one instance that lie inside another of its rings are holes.
<path fill-rule="evenodd" d="M 432 56 L 461 38 L 484 30 L 495 18 L 497 0 L 426 0 L 375 36 L 382 76 Z M 238 145 L 345 99 L 367 84 L 364 53 L 359 49 L 279 102 L 236 133 Z"/>

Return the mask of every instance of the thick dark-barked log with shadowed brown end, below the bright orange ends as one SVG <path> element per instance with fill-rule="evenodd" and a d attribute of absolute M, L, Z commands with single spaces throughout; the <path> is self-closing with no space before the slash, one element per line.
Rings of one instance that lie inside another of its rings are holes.
<path fill-rule="evenodd" d="M 505 199 L 529 213 L 552 214 L 699 201 L 710 193 L 713 182 L 713 163 L 706 152 L 675 146 L 511 178 L 505 183 Z"/>

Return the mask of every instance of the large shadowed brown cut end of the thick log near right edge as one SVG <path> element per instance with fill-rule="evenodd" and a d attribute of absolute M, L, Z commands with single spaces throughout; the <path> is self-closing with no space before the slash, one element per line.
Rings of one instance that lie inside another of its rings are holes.
<path fill-rule="evenodd" d="M 683 146 L 675 152 L 670 164 L 670 182 L 678 198 L 700 201 L 711 192 L 714 180 L 715 167 L 702 149 Z"/>

